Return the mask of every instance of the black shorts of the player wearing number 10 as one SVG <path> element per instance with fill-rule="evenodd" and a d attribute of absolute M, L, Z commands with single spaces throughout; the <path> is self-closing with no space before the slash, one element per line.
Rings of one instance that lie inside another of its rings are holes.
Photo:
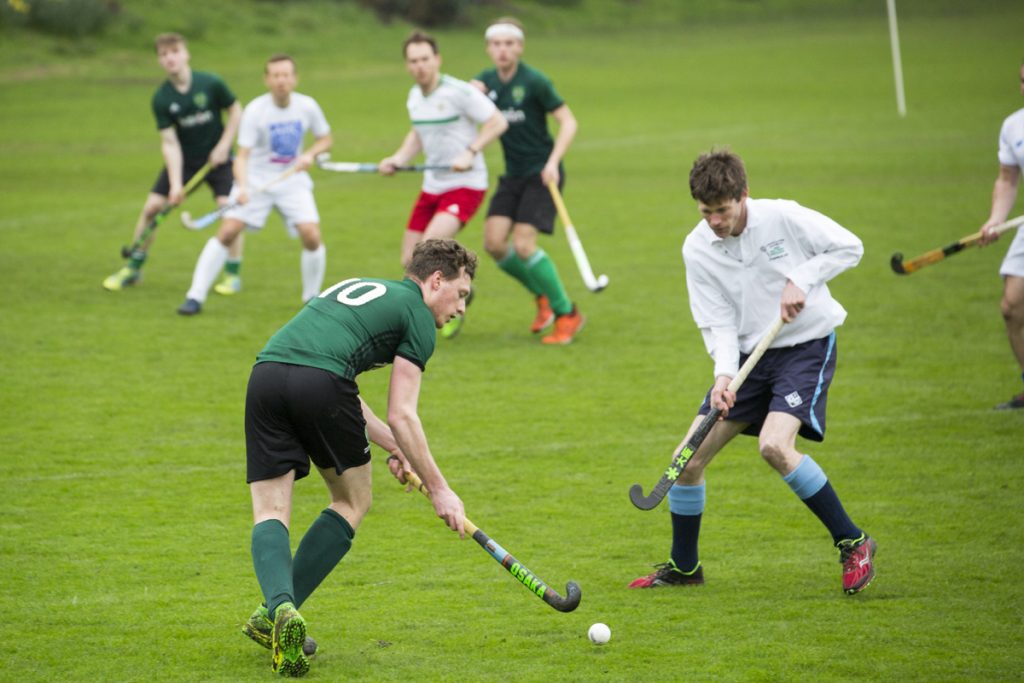
<path fill-rule="evenodd" d="M 301 479 L 310 460 L 338 474 L 370 462 L 359 388 L 319 368 L 257 364 L 246 391 L 246 482 L 289 470 Z"/>

